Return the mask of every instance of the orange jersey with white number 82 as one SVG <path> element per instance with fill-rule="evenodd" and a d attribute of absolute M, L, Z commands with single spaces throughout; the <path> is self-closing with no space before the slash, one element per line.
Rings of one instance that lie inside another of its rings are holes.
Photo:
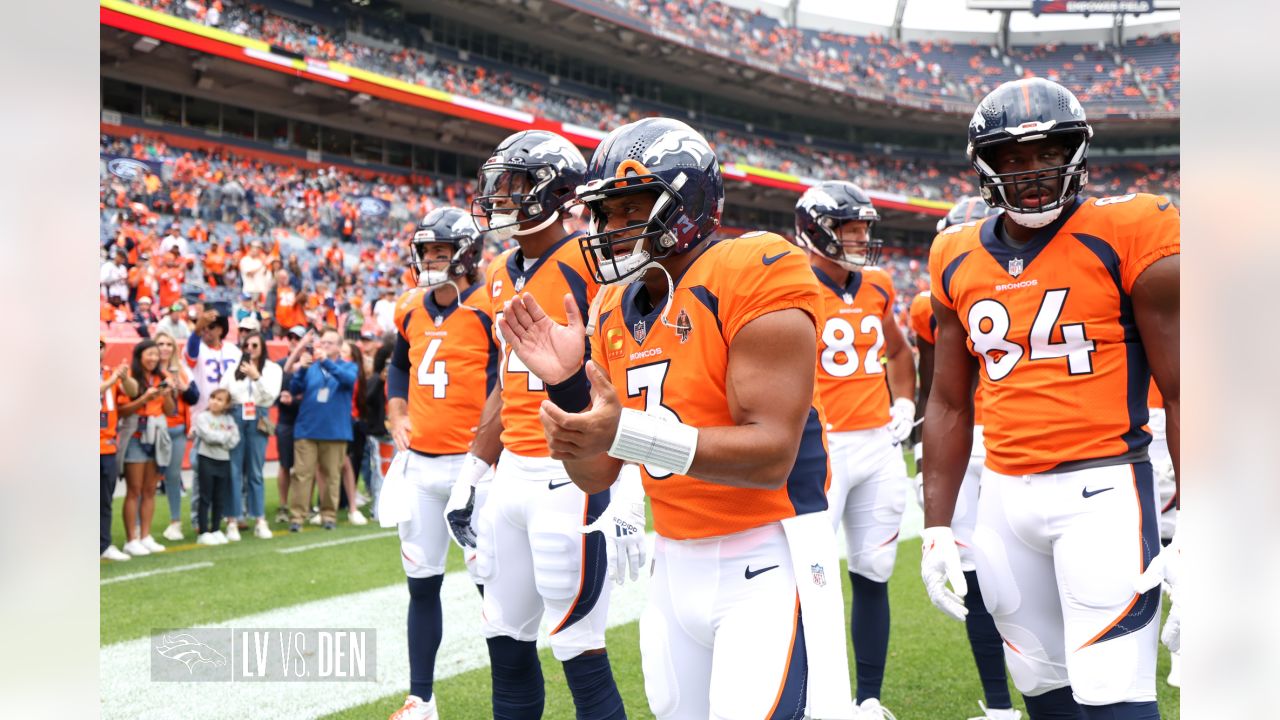
<path fill-rule="evenodd" d="M 822 296 L 818 388 L 827 429 L 865 430 L 888 423 L 884 325 L 893 323 L 893 281 L 879 268 L 849 273 L 844 287 L 813 268 Z"/>

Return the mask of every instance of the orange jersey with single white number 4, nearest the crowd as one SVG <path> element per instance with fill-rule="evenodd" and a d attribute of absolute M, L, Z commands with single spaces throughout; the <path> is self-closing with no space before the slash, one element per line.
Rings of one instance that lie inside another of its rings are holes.
<path fill-rule="evenodd" d="M 460 300 L 440 307 L 429 290 L 413 288 L 396 301 L 396 328 L 408 343 L 410 447 L 419 452 L 466 452 L 498 378 L 485 286 Z"/>

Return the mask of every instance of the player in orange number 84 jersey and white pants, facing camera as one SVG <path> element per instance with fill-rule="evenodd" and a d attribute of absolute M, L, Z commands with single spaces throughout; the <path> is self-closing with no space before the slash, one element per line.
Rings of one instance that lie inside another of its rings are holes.
<path fill-rule="evenodd" d="M 1144 425 L 1155 375 L 1176 468 L 1178 209 L 1146 193 L 1083 197 L 1092 135 L 1062 86 L 997 87 L 969 123 L 968 155 L 1005 213 L 947 228 L 929 254 L 922 575 L 934 605 L 965 615 L 950 525 L 978 373 L 987 459 L 973 556 L 1036 720 L 1158 717 L 1161 579 L 1176 598 L 1176 543 L 1156 557 Z"/>

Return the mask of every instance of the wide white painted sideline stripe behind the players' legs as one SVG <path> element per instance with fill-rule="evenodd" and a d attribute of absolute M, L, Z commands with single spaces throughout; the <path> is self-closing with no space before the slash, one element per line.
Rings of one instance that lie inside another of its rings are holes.
<path fill-rule="evenodd" d="M 908 502 L 900 539 L 919 534 L 923 514 Z M 837 548 L 845 555 L 842 533 Z M 372 536 L 371 536 L 372 537 Z M 364 538 L 361 538 L 364 539 Z M 324 543 L 316 543 L 319 547 Z M 652 533 L 650 533 L 652 547 Z M 639 620 L 648 596 L 649 575 L 622 587 L 609 584 L 611 628 Z M 489 651 L 480 635 L 480 594 L 465 571 L 444 577 L 444 639 L 436 655 L 435 679 L 489 666 Z M 403 582 L 328 600 L 278 607 L 236 618 L 214 628 L 374 628 L 378 630 L 378 680 L 374 683 L 152 683 L 151 639 L 141 638 L 101 648 L 99 667 L 104 719 L 170 720 L 175 712 L 189 720 L 227 717 L 320 717 L 389 694 L 408 693 L 408 651 L 404 616 L 408 589 Z M 547 628 L 539 638 L 547 644 Z M 448 712 L 451 698 L 439 697 Z M 454 698 L 453 702 L 457 702 Z"/>

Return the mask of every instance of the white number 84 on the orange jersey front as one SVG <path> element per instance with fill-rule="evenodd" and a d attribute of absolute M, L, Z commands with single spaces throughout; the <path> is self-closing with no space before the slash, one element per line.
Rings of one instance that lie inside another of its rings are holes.
<path fill-rule="evenodd" d="M 987 366 L 987 377 L 998 382 L 1014 372 L 1023 356 L 1032 360 L 1051 360 L 1066 357 L 1066 372 L 1071 375 L 1087 375 L 1093 372 L 1093 341 L 1084 334 L 1084 323 L 1059 325 L 1057 319 L 1066 304 L 1068 291 L 1050 290 L 1041 300 L 1032 332 L 1028 336 L 1028 348 L 1009 340 L 1009 310 L 995 300 L 979 300 L 969 307 L 969 340 L 973 350 L 982 355 Z M 1053 328 L 1061 332 L 1062 341 L 1053 342 Z"/>

